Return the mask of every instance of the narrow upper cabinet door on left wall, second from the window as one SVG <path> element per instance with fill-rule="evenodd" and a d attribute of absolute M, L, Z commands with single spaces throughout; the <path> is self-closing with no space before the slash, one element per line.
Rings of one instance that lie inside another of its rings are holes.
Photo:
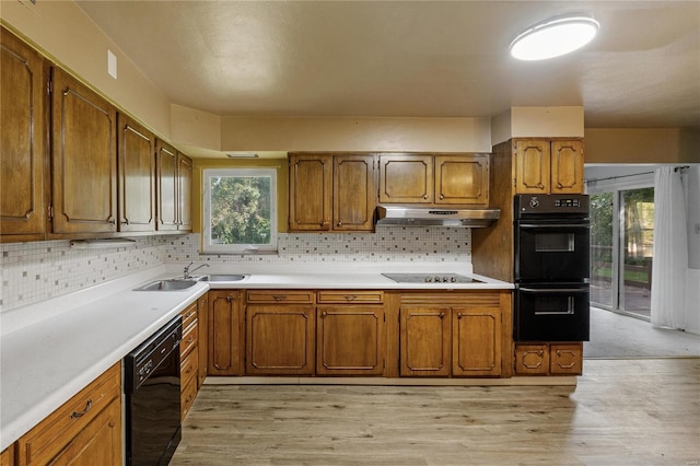
<path fill-rule="evenodd" d="M 177 151 L 156 141 L 158 230 L 177 230 Z"/>

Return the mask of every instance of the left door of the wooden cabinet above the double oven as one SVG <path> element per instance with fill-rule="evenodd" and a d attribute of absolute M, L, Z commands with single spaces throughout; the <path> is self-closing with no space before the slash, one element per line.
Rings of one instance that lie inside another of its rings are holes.
<path fill-rule="evenodd" d="M 517 194 L 549 193 L 549 141 L 521 140 L 515 148 L 515 191 Z"/>

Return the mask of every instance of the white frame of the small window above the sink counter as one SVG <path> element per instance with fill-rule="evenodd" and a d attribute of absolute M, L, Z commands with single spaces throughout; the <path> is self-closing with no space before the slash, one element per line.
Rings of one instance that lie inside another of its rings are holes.
<path fill-rule="evenodd" d="M 270 178 L 270 244 L 214 244 L 211 243 L 211 178 L 218 177 Z M 202 170 L 202 237 L 203 254 L 256 254 L 278 251 L 278 197 L 277 168 L 203 168 Z"/>

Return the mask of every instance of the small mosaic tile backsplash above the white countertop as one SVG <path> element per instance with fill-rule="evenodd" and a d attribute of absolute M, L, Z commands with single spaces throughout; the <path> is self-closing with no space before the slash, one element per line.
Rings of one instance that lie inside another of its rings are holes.
<path fill-rule="evenodd" d="M 0 311 L 168 263 L 470 263 L 471 230 L 377 228 L 375 233 L 281 233 L 279 254 L 200 255 L 199 234 L 145 236 L 133 246 L 74 249 L 69 241 L 0 245 Z"/>

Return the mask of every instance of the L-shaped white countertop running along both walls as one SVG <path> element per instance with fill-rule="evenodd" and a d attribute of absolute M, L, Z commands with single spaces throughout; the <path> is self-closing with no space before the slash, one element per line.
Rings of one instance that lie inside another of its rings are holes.
<path fill-rule="evenodd" d="M 211 269 L 211 270 L 210 270 Z M 338 272 L 337 270 L 342 270 Z M 243 273 L 235 282 L 199 282 L 180 291 L 133 291 L 179 275 L 161 266 L 0 314 L 0 451 L 70 399 L 212 289 L 512 289 L 512 283 L 444 265 L 248 265 L 199 269 Z M 396 283 L 382 272 L 457 272 L 483 283 Z"/>

